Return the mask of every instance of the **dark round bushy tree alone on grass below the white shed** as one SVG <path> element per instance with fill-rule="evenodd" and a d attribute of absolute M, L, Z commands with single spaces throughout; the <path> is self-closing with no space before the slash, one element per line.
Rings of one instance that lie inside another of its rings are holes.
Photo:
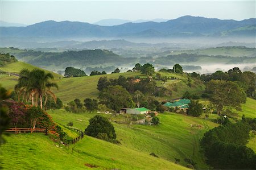
<path fill-rule="evenodd" d="M 102 137 L 101 139 L 106 139 L 104 134 L 106 134 L 110 140 L 117 138 L 112 123 L 101 115 L 96 115 L 89 120 L 89 126 L 85 129 L 85 134 L 93 136 L 94 138 Z"/>

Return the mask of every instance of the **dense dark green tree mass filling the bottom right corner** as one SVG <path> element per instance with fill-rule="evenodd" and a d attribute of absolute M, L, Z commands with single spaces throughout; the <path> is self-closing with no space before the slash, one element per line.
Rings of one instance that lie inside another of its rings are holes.
<path fill-rule="evenodd" d="M 255 130 L 256 119 L 209 130 L 201 139 L 207 163 L 214 169 L 256 169 L 256 154 L 246 146 L 250 130 Z"/>

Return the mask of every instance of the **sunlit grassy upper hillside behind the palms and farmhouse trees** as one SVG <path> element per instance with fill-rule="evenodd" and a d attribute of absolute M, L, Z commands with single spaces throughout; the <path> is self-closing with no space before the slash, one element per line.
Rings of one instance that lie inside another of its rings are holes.
<path fill-rule="evenodd" d="M 14 72 L 18 73 L 22 68 L 34 69 L 33 65 L 16 62 L 12 64 L 7 64 L 5 67 L 1 67 L 0 70 L 5 72 Z M 47 71 L 49 72 L 49 71 Z M 156 81 L 158 86 L 164 86 L 169 90 L 172 90 L 172 96 L 160 98 L 160 100 L 171 99 L 181 97 L 185 91 L 189 92 L 199 92 L 204 90 L 204 85 L 199 84 L 192 80 L 192 88 L 190 88 L 187 84 L 187 76 L 185 74 L 174 74 L 174 73 L 163 73 L 162 76 L 167 77 L 176 77 L 179 80 L 168 80 L 166 84 L 162 85 L 162 81 Z M 108 78 L 118 78 L 120 75 L 125 77 L 134 77 L 140 76 L 141 78 L 146 77 L 141 73 L 135 72 L 126 72 L 126 73 L 115 73 L 115 74 L 106 74 L 106 75 L 98 75 L 98 76 L 88 76 L 88 77 L 71 77 L 71 78 L 59 78 L 61 77 L 59 74 L 53 73 L 55 77 L 55 82 L 59 85 L 59 89 L 53 89 L 53 92 L 59 97 L 64 103 L 68 103 L 75 98 L 81 99 L 83 101 L 85 98 L 97 98 L 98 90 L 97 90 L 97 82 L 98 79 L 102 76 L 107 76 Z M 14 85 L 17 83 L 18 78 L 15 76 L 7 76 L 6 74 L 2 74 L 0 76 L 0 81 L 3 87 L 7 89 L 13 89 Z M 177 90 L 174 90 L 176 86 Z"/>

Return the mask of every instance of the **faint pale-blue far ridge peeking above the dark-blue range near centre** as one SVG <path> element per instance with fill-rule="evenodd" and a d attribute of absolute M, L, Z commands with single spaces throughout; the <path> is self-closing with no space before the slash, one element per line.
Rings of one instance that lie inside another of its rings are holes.
<path fill-rule="evenodd" d="M 125 23 L 142 23 L 142 22 L 166 22 L 168 19 L 156 18 L 156 19 L 138 19 L 138 20 L 126 20 L 126 19 L 102 19 L 93 24 L 99 26 L 118 26 Z"/>

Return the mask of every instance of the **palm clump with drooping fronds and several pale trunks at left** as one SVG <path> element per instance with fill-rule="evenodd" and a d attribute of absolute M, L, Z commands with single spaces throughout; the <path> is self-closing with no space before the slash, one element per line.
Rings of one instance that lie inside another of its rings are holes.
<path fill-rule="evenodd" d="M 49 80 L 51 79 L 53 79 L 52 73 L 46 73 L 40 69 L 34 69 L 31 72 L 24 69 L 20 72 L 20 78 L 15 88 L 20 89 L 20 91 L 26 91 L 29 94 L 32 106 L 38 105 L 39 98 L 40 107 L 43 109 L 43 97 L 45 97 L 44 106 L 48 95 L 52 96 L 56 102 L 56 96 L 50 89 L 53 87 L 58 88 L 58 86 L 56 83 L 50 82 Z"/>

